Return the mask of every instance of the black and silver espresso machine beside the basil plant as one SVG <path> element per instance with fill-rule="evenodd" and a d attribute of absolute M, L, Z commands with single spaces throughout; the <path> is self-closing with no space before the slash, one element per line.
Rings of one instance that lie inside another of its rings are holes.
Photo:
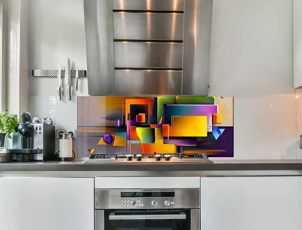
<path fill-rule="evenodd" d="M 16 161 L 50 161 L 55 155 L 55 126 L 45 123 L 33 123 L 28 112 L 21 114 L 23 123 L 13 134 L 12 149 Z"/>

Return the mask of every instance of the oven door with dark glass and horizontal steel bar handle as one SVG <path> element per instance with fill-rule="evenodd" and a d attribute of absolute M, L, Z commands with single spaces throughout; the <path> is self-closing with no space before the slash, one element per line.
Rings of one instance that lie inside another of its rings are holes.
<path fill-rule="evenodd" d="M 95 230 L 200 230 L 200 209 L 95 210 Z"/>

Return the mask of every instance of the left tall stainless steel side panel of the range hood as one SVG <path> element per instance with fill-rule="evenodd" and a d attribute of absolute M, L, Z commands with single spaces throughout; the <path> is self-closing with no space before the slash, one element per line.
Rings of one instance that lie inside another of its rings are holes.
<path fill-rule="evenodd" d="M 112 1 L 84 0 L 89 95 L 115 95 Z"/>

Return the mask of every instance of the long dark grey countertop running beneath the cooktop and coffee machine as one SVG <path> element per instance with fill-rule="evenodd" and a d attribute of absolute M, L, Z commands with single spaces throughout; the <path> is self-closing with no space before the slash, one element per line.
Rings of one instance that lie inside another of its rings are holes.
<path fill-rule="evenodd" d="M 213 160 L 213 159 L 212 159 Z M 213 160 L 214 163 L 83 164 L 76 161 L 2 162 L 0 171 L 229 171 L 302 170 L 302 160 Z"/>

